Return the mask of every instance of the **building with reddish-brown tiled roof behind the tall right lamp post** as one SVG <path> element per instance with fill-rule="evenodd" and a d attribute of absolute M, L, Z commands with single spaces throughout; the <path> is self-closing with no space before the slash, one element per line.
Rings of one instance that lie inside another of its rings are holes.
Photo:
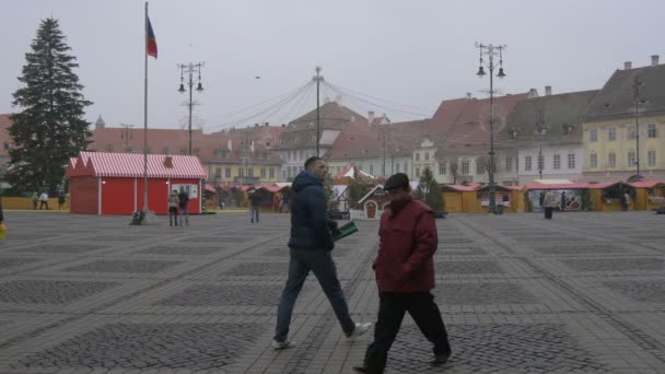
<path fill-rule="evenodd" d="M 497 142 L 506 130 L 509 114 L 515 105 L 537 96 L 535 90 L 527 93 L 494 97 L 494 151 L 495 160 L 502 156 Z M 486 183 L 488 153 L 490 151 L 490 100 L 478 100 L 467 94 L 441 103 L 428 126 L 428 138 L 436 148 L 433 174 L 439 183 Z M 417 155 L 416 155 L 417 156 Z M 514 155 L 516 157 L 516 154 Z M 498 163 L 499 165 L 499 163 Z M 415 175 L 419 178 L 419 175 Z"/>

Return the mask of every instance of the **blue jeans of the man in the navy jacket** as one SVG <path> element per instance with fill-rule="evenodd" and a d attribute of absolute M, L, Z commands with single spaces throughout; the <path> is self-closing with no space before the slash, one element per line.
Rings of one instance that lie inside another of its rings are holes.
<path fill-rule="evenodd" d="M 323 249 L 295 249 L 291 248 L 291 261 L 289 262 L 289 279 L 282 292 L 277 309 L 277 328 L 275 340 L 284 341 L 289 335 L 289 325 L 293 314 L 293 305 L 302 290 L 305 279 L 314 272 L 318 283 L 324 289 L 335 315 L 346 335 L 353 332 L 355 323 L 349 315 L 349 306 L 345 300 L 343 291 L 337 279 L 337 269 L 329 252 Z"/>

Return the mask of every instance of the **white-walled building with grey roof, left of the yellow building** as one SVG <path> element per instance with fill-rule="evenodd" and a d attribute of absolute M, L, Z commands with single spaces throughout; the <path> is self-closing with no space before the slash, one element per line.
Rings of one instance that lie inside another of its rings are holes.
<path fill-rule="evenodd" d="M 584 157 L 584 115 L 597 93 L 594 90 L 553 95 L 546 86 L 544 96 L 517 103 L 509 115 L 506 129 L 497 137 L 505 154 L 497 160 L 498 180 L 518 185 L 534 179 L 579 180 Z"/>

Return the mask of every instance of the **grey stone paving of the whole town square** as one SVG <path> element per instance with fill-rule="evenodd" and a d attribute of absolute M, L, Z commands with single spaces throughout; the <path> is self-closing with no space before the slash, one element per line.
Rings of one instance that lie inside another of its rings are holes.
<path fill-rule="evenodd" d="M 348 341 L 312 274 L 290 329 L 299 346 L 270 349 L 289 217 L 247 218 L 137 227 L 128 217 L 5 212 L 0 373 L 351 373 L 372 334 Z M 664 220 L 438 220 L 433 293 L 453 357 L 430 366 L 431 344 L 407 315 L 386 373 L 665 372 Z M 332 256 L 353 319 L 374 322 L 377 222 L 357 225 Z"/>

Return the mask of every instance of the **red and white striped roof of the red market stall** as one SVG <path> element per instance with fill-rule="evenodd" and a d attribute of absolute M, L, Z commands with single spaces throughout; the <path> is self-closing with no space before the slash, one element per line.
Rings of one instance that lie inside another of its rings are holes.
<path fill-rule="evenodd" d="M 148 155 L 149 178 L 206 178 L 206 170 L 197 156 L 173 155 L 173 167 L 166 167 L 164 154 Z M 75 160 L 75 161 L 74 161 Z M 67 176 L 101 177 L 142 177 L 143 154 L 81 152 L 79 157 L 70 160 Z"/>

